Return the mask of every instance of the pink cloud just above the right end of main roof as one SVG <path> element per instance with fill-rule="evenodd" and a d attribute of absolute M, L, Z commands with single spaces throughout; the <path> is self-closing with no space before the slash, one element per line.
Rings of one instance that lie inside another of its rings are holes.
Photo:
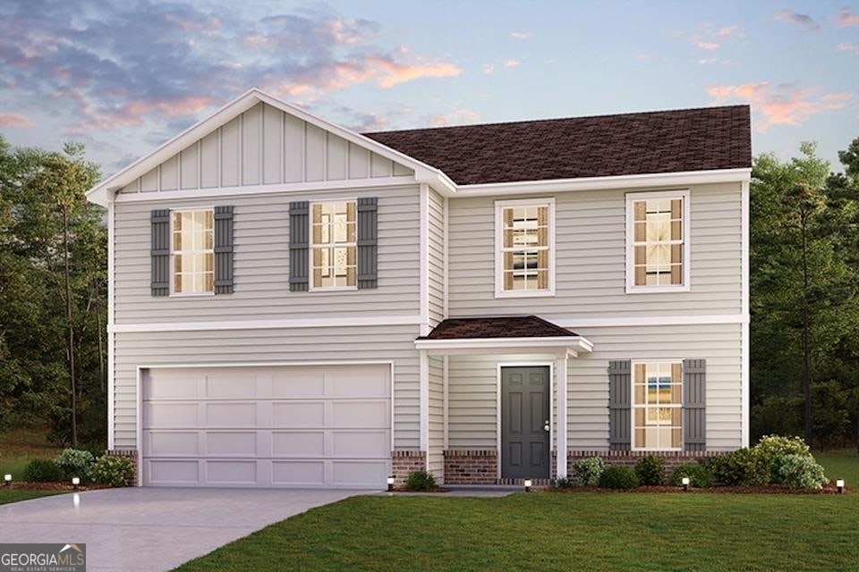
<path fill-rule="evenodd" d="M 710 86 L 707 93 L 714 103 L 744 101 L 762 115 L 757 128 L 766 131 L 772 125 L 802 125 L 812 115 L 843 108 L 853 98 L 849 92 L 836 92 L 816 97 L 818 88 L 770 86 L 769 81 L 744 83 L 738 86 Z"/>

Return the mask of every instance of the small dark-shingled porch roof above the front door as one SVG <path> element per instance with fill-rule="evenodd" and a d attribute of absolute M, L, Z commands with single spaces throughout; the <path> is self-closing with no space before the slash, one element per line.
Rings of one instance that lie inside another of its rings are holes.
<path fill-rule="evenodd" d="M 577 336 L 566 328 L 552 324 L 536 315 L 498 316 L 485 318 L 448 318 L 438 324 L 428 336 L 419 340 L 461 340 L 476 338 L 557 338 Z"/>

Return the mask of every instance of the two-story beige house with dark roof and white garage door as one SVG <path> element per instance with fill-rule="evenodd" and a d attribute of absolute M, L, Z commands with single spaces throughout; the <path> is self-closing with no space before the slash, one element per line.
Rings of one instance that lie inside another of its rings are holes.
<path fill-rule="evenodd" d="M 748 444 L 747 106 L 358 134 L 253 88 L 89 199 L 139 483 Z"/>

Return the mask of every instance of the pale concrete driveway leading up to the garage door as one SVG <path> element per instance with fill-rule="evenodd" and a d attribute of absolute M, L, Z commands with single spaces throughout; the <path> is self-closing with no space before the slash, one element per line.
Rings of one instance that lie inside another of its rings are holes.
<path fill-rule="evenodd" d="M 86 543 L 87 570 L 169 570 L 367 491 L 127 488 L 0 505 L 0 543 Z"/>

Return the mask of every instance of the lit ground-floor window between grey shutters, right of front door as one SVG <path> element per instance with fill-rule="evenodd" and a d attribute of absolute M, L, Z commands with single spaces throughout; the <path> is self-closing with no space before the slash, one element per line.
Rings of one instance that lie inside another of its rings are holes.
<path fill-rule="evenodd" d="M 633 449 L 673 450 L 683 444 L 683 365 L 633 364 Z"/>

